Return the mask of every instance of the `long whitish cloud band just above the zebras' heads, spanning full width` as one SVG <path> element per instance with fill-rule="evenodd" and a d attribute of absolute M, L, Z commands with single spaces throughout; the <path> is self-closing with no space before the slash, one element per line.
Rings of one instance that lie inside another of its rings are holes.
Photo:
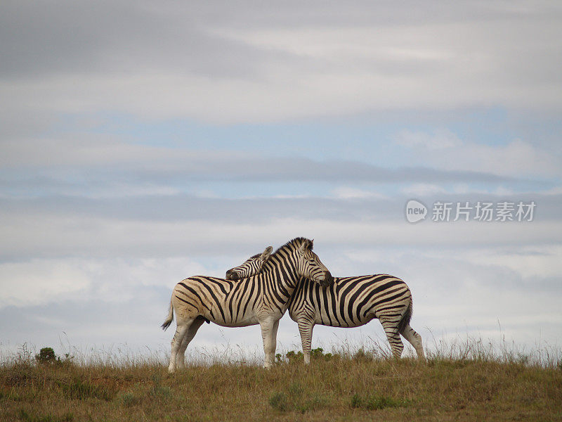
<path fill-rule="evenodd" d="M 281 245 L 296 236 L 326 245 L 490 245 L 556 243 L 560 222 L 457 222 L 407 224 L 403 207 L 396 219 L 270 218 L 256 222 L 208 220 L 136 221 L 92 217 L 4 217 L 0 244 L 6 256 L 181 257 L 215 255 L 263 245 Z M 377 209 L 372 210 L 377 217 Z M 40 233 L 41 236 L 37 236 Z M 320 239 L 322 239 L 320 241 Z M 255 252 L 254 252 L 255 253 Z"/>

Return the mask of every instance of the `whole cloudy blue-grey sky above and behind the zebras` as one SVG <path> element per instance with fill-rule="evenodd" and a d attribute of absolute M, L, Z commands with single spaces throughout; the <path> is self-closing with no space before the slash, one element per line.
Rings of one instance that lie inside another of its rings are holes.
<path fill-rule="evenodd" d="M 7 0 L 0 57 L 0 359 L 165 354 L 175 283 L 297 236 L 406 281 L 429 350 L 561 350 L 559 2 Z"/>

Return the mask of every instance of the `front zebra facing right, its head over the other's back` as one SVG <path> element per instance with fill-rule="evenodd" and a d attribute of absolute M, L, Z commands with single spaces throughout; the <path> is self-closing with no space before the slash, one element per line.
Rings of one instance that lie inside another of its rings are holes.
<path fill-rule="evenodd" d="M 299 281 L 311 279 L 322 286 L 332 283 L 332 275 L 312 248 L 312 241 L 294 238 L 268 254 L 258 274 L 238 282 L 194 276 L 177 283 L 162 324 L 166 330 L 175 311 L 177 327 L 171 340 L 168 371 L 174 372 L 176 366 L 185 367 L 185 349 L 205 321 L 228 327 L 259 324 L 266 355 L 263 366 L 270 367 L 275 357 L 279 320 Z M 260 256 L 254 259 L 259 260 Z"/>

